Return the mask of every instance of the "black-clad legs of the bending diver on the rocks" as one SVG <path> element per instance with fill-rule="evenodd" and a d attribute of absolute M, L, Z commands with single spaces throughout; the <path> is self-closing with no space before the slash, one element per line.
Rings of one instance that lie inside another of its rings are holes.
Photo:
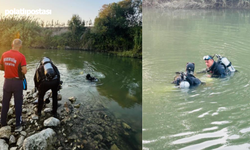
<path fill-rule="evenodd" d="M 37 113 L 41 114 L 41 111 L 43 109 L 43 100 L 44 95 L 48 90 L 52 90 L 52 99 L 53 99 L 53 108 L 52 113 L 56 114 L 57 111 L 57 88 L 59 86 L 58 80 L 52 80 L 52 81 L 42 81 L 38 87 L 38 106 L 37 106 Z"/>

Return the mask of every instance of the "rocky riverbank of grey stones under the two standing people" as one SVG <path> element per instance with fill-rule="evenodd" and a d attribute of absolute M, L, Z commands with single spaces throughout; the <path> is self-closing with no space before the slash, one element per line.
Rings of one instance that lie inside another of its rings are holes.
<path fill-rule="evenodd" d="M 59 101 L 56 118 L 50 114 L 52 102 L 45 105 L 38 118 L 33 104 L 36 99 L 34 91 L 24 96 L 21 132 L 14 132 L 15 109 L 11 101 L 8 126 L 0 128 L 1 150 L 140 149 L 131 143 L 136 131 L 117 119 L 101 102 L 79 103 L 75 97 L 64 99 L 58 96 L 62 100 Z"/>

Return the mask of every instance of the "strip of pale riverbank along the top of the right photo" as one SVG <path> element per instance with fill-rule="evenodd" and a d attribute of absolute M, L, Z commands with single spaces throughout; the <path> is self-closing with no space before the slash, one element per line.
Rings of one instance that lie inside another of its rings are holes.
<path fill-rule="evenodd" d="M 173 8 L 173 9 L 220 9 L 238 8 L 250 9 L 248 0 L 144 0 L 143 7 Z"/>

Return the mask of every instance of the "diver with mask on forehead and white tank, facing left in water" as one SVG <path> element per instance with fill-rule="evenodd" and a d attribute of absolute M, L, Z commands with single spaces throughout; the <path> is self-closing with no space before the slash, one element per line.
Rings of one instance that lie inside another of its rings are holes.
<path fill-rule="evenodd" d="M 218 58 L 217 62 L 214 61 L 214 57 L 211 55 L 203 57 L 207 66 L 206 72 L 211 73 L 210 77 L 225 78 L 236 71 L 227 58 L 217 54 L 215 56 Z"/>

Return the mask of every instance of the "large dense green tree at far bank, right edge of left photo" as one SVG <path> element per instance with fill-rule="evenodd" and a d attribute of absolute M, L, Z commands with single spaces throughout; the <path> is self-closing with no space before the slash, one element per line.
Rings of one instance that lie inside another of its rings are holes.
<path fill-rule="evenodd" d="M 141 0 L 123 0 L 103 5 L 95 19 L 94 44 L 97 49 L 123 51 L 133 49 L 133 28 L 141 27 Z"/>

